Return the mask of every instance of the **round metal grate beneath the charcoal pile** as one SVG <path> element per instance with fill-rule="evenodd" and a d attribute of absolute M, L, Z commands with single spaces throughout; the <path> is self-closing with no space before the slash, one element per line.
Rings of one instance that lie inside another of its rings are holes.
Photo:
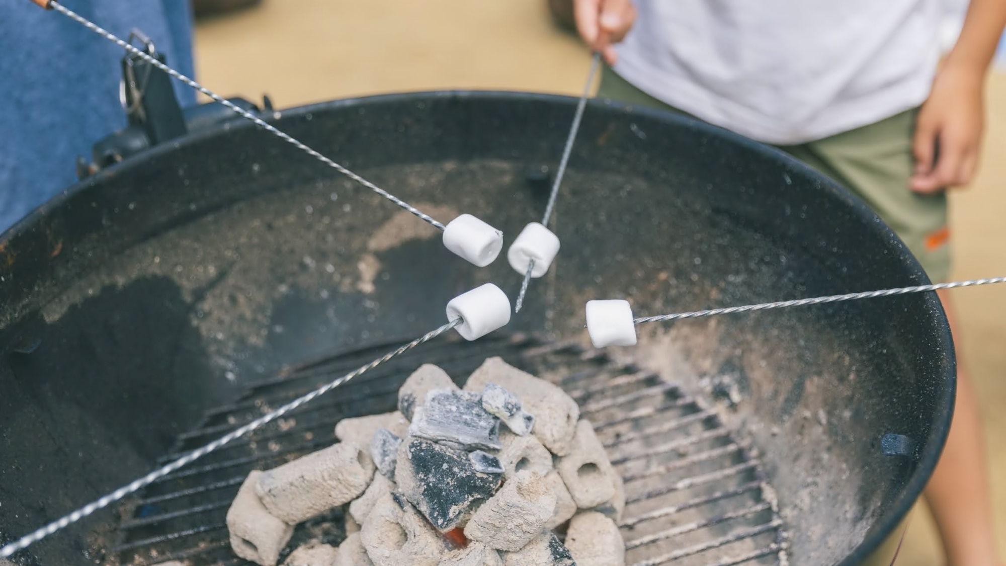
<path fill-rule="evenodd" d="M 368 362 L 387 345 L 306 364 L 249 386 L 233 403 L 208 411 L 163 460 Z M 423 363 L 464 380 L 491 356 L 558 384 L 594 423 L 625 479 L 626 564 L 786 564 L 786 535 L 761 462 L 713 410 L 675 384 L 633 365 L 615 364 L 604 352 L 523 334 L 431 343 L 162 478 L 123 510 L 127 519 L 118 526 L 105 562 L 250 564 L 230 552 L 224 524 L 249 470 L 275 467 L 331 444 L 340 419 L 393 410 L 398 387 Z M 288 548 L 310 539 L 337 545 L 343 538 L 342 514 L 336 511 L 299 526 Z"/>

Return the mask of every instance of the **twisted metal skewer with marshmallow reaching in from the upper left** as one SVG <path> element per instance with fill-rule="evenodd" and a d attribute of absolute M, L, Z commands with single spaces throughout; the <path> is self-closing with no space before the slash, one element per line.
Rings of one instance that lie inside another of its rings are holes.
<path fill-rule="evenodd" d="M 207 97 L 213 99 L 214 101 L 220 103 L 221 105 L 234 111 L 242 118 L 254 122 L 257 126 L 263 128 L 264 130 L 272 133 L 273 135 L 279 137 L 283 141 L 297 147 L 298 149 L 304 151 L 308 155 L 318 159 L 322 163 L 332 167 L 336 171 L 339 171 L 343 175 L 353 179 L 354 181 L 362 184 L 363 186 L 369 188 L 370 190 L 376 192 L 380 196 L 390 200 L 395 205 L 404 208 L 412 216 L 418 218 L 420 220 L 426 222 L 427 224 L 437 228 L 444 233 L 444 245 L 454 252 L 455 254 L 461 256 L 462 258 L 468 260 L 469 262 L 475 264 L 479 267 L 484 267 L 491 264 L 496 257 L 499 255 L 500 250 L 503 247 L 503 233 L 496 230 L 495 228 L 489 226 L 488 224 L 482 222 L 481 220 L 471 216 L 471 215 L 461 215 L 447 226 L 438 222 L 433 217 L 427 215 L 423 210 L 412 206 L 408 202 L 398 198 L 397 196 L 391 194 L 390 192 L 384 190 L 383 188 L 377 186 L 376 184 L 370 182 L 369 180 L 361 177 L 360 175 L 350 171 L 346 167 L 336 163 L 332 159 L 322 155 L 318 151 L 308 147 L 306 144 L 300 140 L 295 139 L 286 132 L 283 132 L 276 128 L 275 126 L 267 123 L 258 116 L 252 114 L 250 112 L 236 106 L 230 101 L 224 99 L 223 97 L 217 95 L 216 93 L 210 91 L 209 89 L 203 87 L 199 83 L 196 83 L 192 79 L 185 77 L 184 75 L 178 73 L 177 70 L 171 68 L 170 66 L 164 64 L 163 62 L 152 57 L 149 53 L 146 53 L 133 45 L 129 44 L 109 32 L 108 30 L 98 26 L 91 20 L 80 16 L 79 14 L 73 12 L 72 10 L 62 6 L 54 0 L 31 0 L 32 2 L 38 4 L 39 6 L 52 9 L 60 14 L 70 18 L 71 20 L 83 25 L 88 29 L 98 33 L 99 35 L 105 37 L 106 39 L 116 43 L 120 47 L 126 49 L 130 53 L 146 60 L 150 64 L 160 68 L 164 73 L 167 73 L 171 77 L 174 77 L 178 81 L 181 81 L 185 85 L 199 91 L 200 93 L 206 95 Z"/>

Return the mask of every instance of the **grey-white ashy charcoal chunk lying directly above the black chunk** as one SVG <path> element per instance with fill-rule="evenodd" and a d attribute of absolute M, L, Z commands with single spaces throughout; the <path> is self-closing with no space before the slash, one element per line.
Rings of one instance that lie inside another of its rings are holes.
<path fill-rule="evenodd" d="M 500 421 L 482 408 L 482 396 L 466 391 L 435 389 L 415 408 L 408 433 L 459 449 L 498 450 Z"/>

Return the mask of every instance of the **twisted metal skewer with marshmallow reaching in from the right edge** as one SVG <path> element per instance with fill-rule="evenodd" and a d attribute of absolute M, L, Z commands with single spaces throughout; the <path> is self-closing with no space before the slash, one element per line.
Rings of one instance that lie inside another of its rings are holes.
<path fill-rule="evenodd" d="M 633 345 L 636 343 L 635 326 L 636 324 L 642 324 L 644 322 L 666 322 L 670 320 L 681 320 L 684 318 L 699 318 L 703 316 L 713 316 L 717 314 L 734 314 L 737 312 L 768 310 L 772 308 L 786 308 L 791 306 L 806 306 L 812 304 L 825 304 L 825 303 L 833 303 L 839 301 L 872 299 L 876 297 L 890 297 L 894 295 L 906 295 L 908 293 L 925 293 L 928 291 L 939 291 L 942 289 L 955 289 L 957 287 L 974 287 L 977 285 L 990 285 L 992 283 L 1006 283 L 1006 277 L 990 277 L 986 279 L 953 281 L 950 283 L 936 283 L 932 285 L 897 287 L 894 289 L 881 289 L 878 291 L 846 293 L 844 295 L 828 295 L 824 297 L 795 299 L 789 301 L 777 301 L 771 303 L 748 304 L 743 306 L 731 306 L 726 308 L 711 308 L 707 310 L 696 310 L 692 312 L 677 312 L 674 314 L 643 316 L 640 318 L 633 318 L 632 307 L 629 305 L 629 301 L 625 300 L 588 301 L 586 330 L 588 333 L 590 333 L 591 335 L 591 341 L 594 343 L 595 347 L 605 347 L 608 345 Z"/>

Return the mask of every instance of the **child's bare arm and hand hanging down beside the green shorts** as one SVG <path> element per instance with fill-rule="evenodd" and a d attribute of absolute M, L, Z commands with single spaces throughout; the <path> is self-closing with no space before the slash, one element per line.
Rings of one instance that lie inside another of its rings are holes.
<path fill-rule="evenodd" d="M 985 76 L 1006 25 L 1006 1 L 971 0 L 961 36 L 918 114 L 911 189 L 936 192 L 966 184 L 978 165 Z"/>

